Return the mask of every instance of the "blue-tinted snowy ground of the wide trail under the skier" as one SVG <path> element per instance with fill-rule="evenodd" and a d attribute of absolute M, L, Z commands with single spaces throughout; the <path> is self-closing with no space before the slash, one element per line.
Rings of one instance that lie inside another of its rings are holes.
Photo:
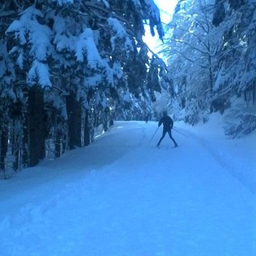
<path fill-rule="evenodd" d="M 5 256 L 256 255 L 256 136 L 214 120 L 115 122 L 93 144 L 0 181 Z"/>

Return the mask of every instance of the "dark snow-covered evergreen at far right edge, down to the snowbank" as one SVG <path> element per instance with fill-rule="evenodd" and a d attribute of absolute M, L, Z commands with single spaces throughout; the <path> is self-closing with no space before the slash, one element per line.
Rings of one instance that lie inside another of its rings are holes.
<path fill-rule="evenodd" d="M 221 106 L 226 98 L 234 102 L 225 127 L 226 134 L 234 138 L 256 128 L 256 2 L 224 1 L 222 9 L 225 17 L 215 24 L 222 40 L 216 53 L 214 90 L 218 98 L 224 99 L 218 100 Z"/>

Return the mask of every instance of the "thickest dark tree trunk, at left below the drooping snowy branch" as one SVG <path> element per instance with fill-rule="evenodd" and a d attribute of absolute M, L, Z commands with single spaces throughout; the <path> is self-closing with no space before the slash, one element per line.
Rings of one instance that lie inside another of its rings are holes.
<path fill-rule="evenodd" d="M 31 167 L 36 166 L 40 160 L 46 157 L 43 92 L 38 86 L 30 88 L 28 113 L 28 166 Z"/>

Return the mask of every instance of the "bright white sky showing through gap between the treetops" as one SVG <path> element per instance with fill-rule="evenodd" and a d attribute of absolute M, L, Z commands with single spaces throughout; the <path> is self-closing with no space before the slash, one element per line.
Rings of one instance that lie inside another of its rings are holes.
<path fill-rule="evenodd" d="M 177 0 L 154 0 L 154 3 L 158 6 L 160 10 L 161 21 L 163 24 L 168 24 L 174 13 L 174 8 L 177 4 Z M 155 53 L 160 50 L 158 46 L 161 46 L 162 41 L 158 38 L 156 33 L 154 37 L 150 34 L 150 26 L 145 26 L 145 37 L 143 38 L 144 42 L 150 47 L 151 50 L 154 50 Z"/>

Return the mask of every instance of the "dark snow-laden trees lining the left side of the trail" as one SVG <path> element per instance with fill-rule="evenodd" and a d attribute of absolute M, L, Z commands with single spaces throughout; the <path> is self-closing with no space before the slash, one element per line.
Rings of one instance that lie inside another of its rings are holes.
<path fill-rule="evenodd" d="M 89 145 L 116 118 L 152 114 L 159 78 L 171 86 L 165 63 L 142 40 L 145 24 L 164 36 L 152 0 L 4 0 L 0 24 L 5 177 Z"/>

